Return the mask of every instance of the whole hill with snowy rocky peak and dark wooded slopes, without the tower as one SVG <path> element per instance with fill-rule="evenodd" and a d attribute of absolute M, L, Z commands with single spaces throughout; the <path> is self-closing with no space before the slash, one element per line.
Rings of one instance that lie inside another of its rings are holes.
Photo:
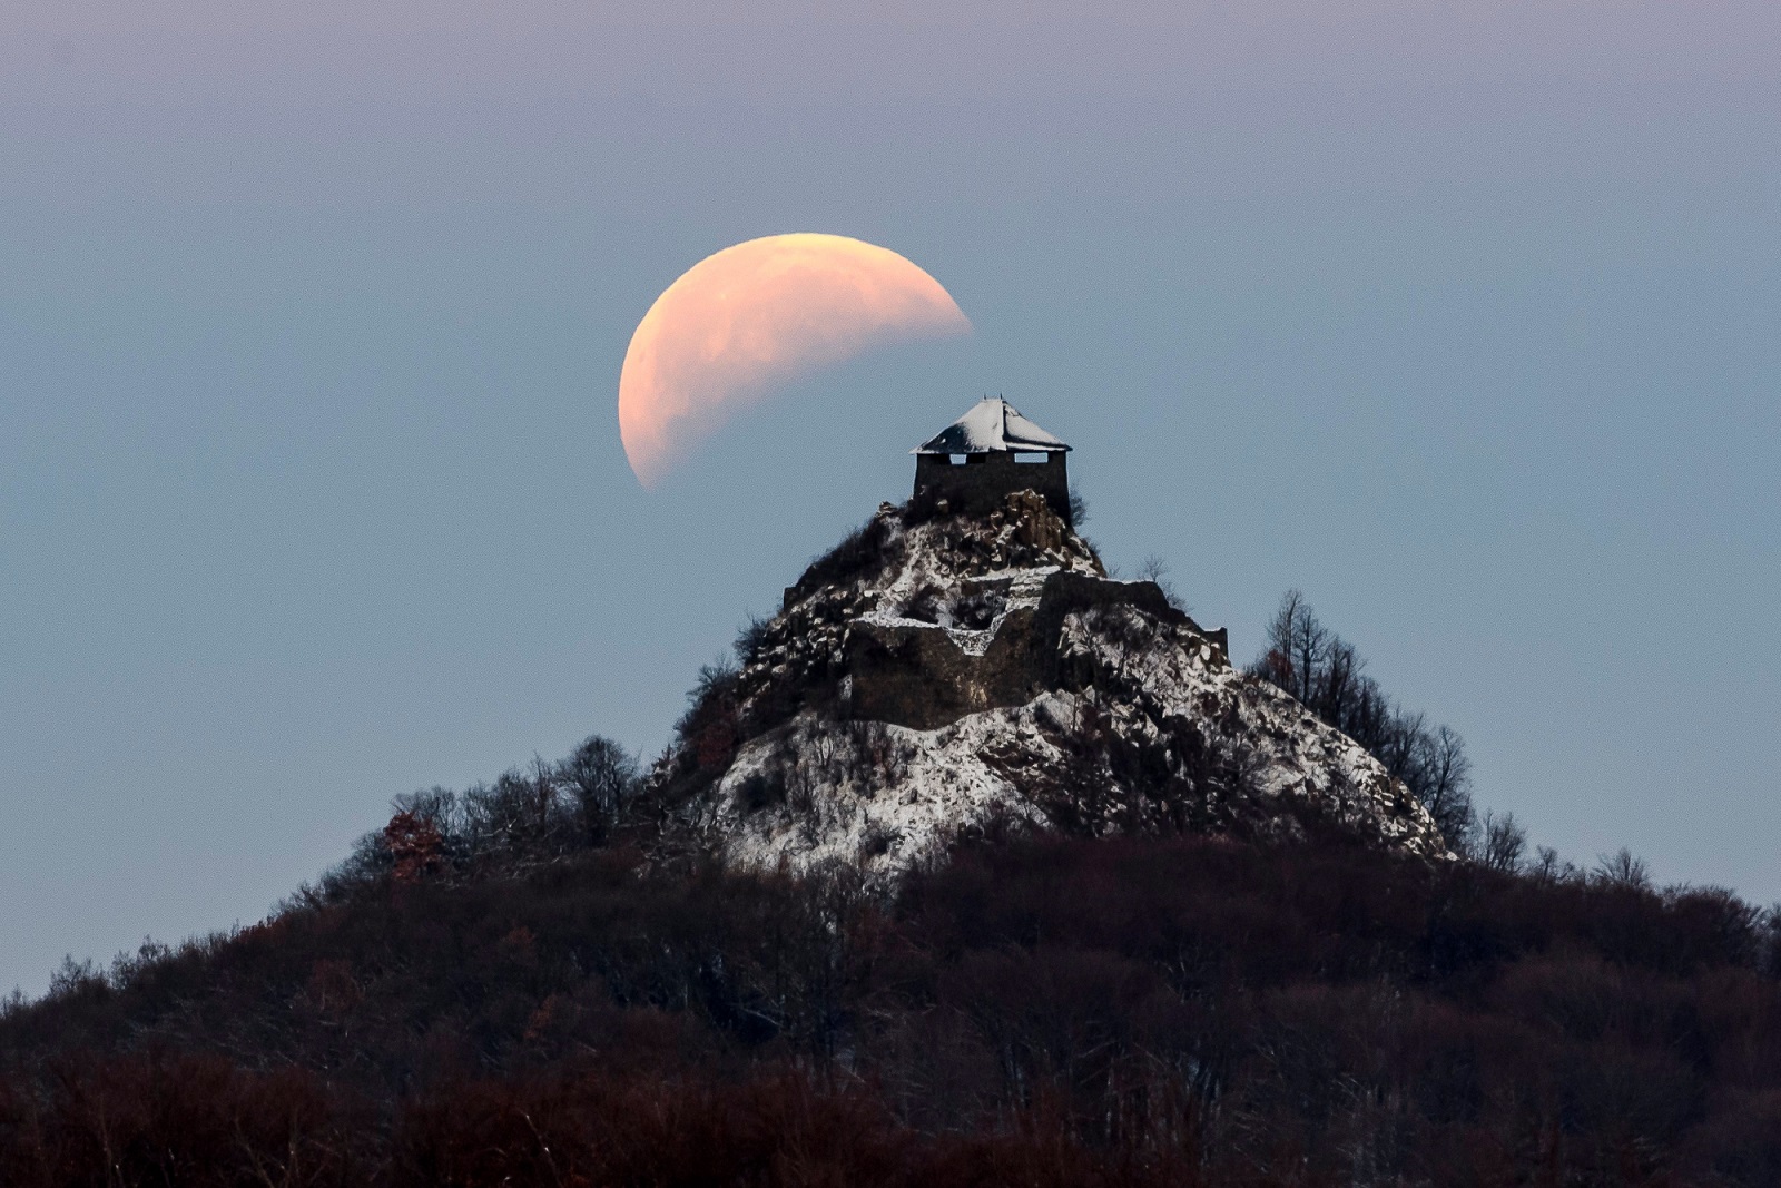
<path fill-rule="evenodd" d="M 1289 597 L 882 508 L 707 670 L 0 1008 L 0 1184 L 1776 1184 L 1781 917 L 1476 823 Z"/>

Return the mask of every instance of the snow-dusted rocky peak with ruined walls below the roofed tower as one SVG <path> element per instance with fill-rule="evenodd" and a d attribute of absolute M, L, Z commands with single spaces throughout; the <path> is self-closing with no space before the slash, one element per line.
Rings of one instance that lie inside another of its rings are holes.
<path fill-rule="evenodd" d="M 883 504 L 785 591 L 657 766 L 725 860 L 894 876 L 974 830 L 1341 834 L 1444 857 L 1346 736 L 1231 666 L 1147 581 L 1106 575 L 1044 499 Z"/>

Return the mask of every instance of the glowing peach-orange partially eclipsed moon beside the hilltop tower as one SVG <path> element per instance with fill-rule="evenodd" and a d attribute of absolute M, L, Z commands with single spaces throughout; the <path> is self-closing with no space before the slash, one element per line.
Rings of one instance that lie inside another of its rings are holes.
<path fill-rule="evenodd" d="M 768 235 L 668 285 L 618 374 L 618 433 L 645 488 L 734 410 L 871 347 L 971 333 L 953 296 L 889 248 Z"/>

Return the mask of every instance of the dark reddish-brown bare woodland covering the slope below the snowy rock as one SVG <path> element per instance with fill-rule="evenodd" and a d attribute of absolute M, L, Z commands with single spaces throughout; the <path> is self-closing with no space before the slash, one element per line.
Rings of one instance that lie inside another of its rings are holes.
<path fill-rule="evenodd" d="M 894 903 L 591 851 L 64 980 L 0 1017 L 0 1183 L 1754 1188 L 1774 948 L 1361 850 L 1004 837 Z"/>

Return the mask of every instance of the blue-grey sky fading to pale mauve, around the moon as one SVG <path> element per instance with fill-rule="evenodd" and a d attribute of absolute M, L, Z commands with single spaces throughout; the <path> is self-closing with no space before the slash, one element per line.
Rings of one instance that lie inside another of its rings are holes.
<path fill-rule="evenodd" d="M 0 990 L 253 923 L 698 664 L 985 392 L 1236 657 L 1300 588 L 1484 805 L 1781 899 L 1772 0 L 0 0 Z M 720 248 L 969 315 L 645 492 Z"/>

